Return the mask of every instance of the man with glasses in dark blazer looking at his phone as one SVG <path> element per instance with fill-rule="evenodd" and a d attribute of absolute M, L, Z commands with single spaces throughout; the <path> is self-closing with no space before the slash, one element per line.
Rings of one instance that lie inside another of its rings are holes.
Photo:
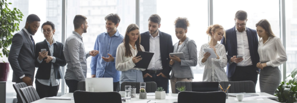
<path fill-rule="evenodd" d="M 227 76 L 229 81 L 253 81 L 258 79 L 260 69 L 258 37 L 255 30 L 246 27 L 247 12 L 239 10 L 235 14 L 235 26 L 226 30 L 221 41 L 227 52 Z"/>

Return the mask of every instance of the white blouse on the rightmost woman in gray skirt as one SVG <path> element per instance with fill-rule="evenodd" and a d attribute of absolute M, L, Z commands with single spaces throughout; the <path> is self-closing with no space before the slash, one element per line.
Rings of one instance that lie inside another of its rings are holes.
<path fill-rule="evenodd" d="M 260 39 L 258 53 L 260 62 L 267 62 L 267 66 L 278 67 L 287 61 L 286 50 L 279 37 L 270 36 L 265 43 Z"/>

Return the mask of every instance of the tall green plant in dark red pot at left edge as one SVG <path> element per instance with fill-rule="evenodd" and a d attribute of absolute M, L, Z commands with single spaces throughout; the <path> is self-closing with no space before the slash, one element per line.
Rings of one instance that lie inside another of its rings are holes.
<path fill-rule="evenodd" d="M 19 9 L 13 8 L 12 10 L 8 8 L 6 0 L 0 0 L 0 57 L 8 57 L 9 50 L 7 49 L 12 42 L 12 33 L 19 31 L 19 23 L 22 21 L 24 16 Z M 0 81 L 7 81 L 9 74 L 9 63 L 5 63 L 0 60 Z"/>

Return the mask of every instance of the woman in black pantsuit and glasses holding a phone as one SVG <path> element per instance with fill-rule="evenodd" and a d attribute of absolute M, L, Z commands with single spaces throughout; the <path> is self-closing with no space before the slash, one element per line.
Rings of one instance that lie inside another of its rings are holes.
<path fill-rule="evenodd" d="M 63 77 L 60 67 L 64 67 L 66 61 L 63 44 L 52 38 L 55 33 L 54 24 L 47 21 L 41 26 L 41 29 L 46 39 L 36 43 L 35 67 L 38 69 L 35 85 L 36 91 L 42 99 L 57 96 L 60 80 Z"/>

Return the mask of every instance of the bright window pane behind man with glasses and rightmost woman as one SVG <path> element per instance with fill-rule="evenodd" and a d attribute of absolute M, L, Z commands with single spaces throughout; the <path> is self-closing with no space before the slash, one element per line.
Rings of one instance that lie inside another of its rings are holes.
<path fill-rule="evenodd" d="M 258 21 L 267 19 L 272 32 L 280 37 L 279 0 L 213 0 L 213 24 L 220 24 L 225 30 L 233 28 L 238 10 L 247 12 L 247 28 L 255 30 Z M 256 92 L 260 92 L 259 81 Z"/>

